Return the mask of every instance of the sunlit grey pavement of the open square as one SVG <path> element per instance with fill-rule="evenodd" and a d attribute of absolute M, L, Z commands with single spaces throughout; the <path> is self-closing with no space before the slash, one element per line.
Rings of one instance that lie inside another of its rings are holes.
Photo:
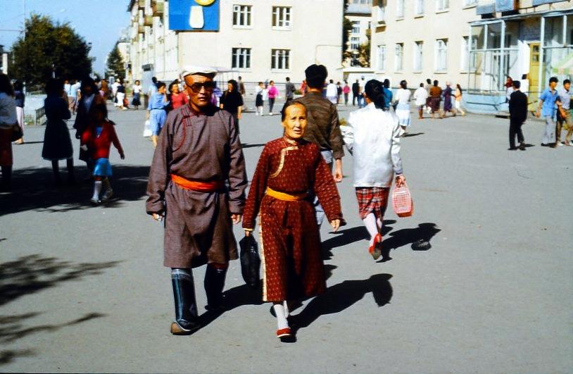
<path fill-rule="evenodd" d="M 348 225 L 322 227 L 329 290 L 294 312 L 298 341 L 286 344 L 238 261 L 225 286 L 229 311 L 190 337 L 170 335 L 163 228 L 144 209 L 153 154 L 141 137 L 145 112 L 110 116 L 126 158 L 112 149 L 115 197 L 103 206 L 89 204 L 90 183 L 53 187 L 43 127 L 28 127 L 28 143 L 14 147 L 14 191 L 0 195 L 0 371 L 573 370 L 573 147 L 539 147 L 540 122 L 524 125 L 532 147 L 508 151 L 508 120 L 414 119 L 401 155 L 415 214 L 386 212 L 386 262 L 367 253 L 347 155 L 339 191 Z M 244 115 L 249 177 L 279 122 Z M 83 163 L 77 174 L 87 176 Z M 418 239 L 432 247 L 413 250 Z M 201 313 L 203 273 L 194 272 Z"/>

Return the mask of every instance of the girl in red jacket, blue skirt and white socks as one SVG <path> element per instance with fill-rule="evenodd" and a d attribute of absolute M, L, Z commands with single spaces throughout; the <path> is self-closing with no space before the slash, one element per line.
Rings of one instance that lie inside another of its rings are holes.
<path fill-rule="evenodd" d="M 94 122 L 92 122 L 82 134 L 82 149 L 90 152 L 94 160 L 94 194 L 92 196 L 93 204 L 100 204 L 101 201 L 108 201 L 113 196 L 113 189 L 109 178 L 111 177 L 111 163 L 109 162 L 109 151 L 111 144 L 118 149 L 120 157 L 123 160 L 125 154 L 118 139 L 118 135 L 113 128 L 114 123 L 107 119 L 108 110 L 106 104 L 96 104 L 94 108 Z M 106 192 L 103 193 L 101 200 L 102 185 L 106 185 Z"/>

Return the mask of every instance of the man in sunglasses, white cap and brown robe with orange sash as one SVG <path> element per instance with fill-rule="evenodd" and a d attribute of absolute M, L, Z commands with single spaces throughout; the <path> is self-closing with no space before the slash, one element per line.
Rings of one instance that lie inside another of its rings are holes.
<path fill-rule="evenodd" d="M 243 213 L 245 161 L 233 117 L 210 104 L 214 76 L 182 73 L 189 104 L 169 113 L 149 173 L 147 213 L 165 217 L 163 265 L 172 269 L 174 335 L 200 327 L 191 268 L 207 263 L 206 308 L 220 311 L 228 263 L 237 258 L 232 223 Z"/>

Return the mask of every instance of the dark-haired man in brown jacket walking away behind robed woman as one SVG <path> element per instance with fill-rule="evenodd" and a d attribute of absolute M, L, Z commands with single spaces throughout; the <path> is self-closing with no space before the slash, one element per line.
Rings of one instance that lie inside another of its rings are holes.
<path fill-rule="evenodd" d="M 322 87 L 328 76 L 324 65 L 311 65 L 304 71 L 308 93 L 296 99 L 306 106 L 307 124 L 304 139 L 320 147 L 330 170 L 334 165 L 334 180 L 342 181 L 342 157 L 344 157 L 344 141 L 340 132 L 340 122 L 336 105 L 322 97 Z M 318 225 L 322 225 L 325 211 L 315 198 L 315 211 Z"/>

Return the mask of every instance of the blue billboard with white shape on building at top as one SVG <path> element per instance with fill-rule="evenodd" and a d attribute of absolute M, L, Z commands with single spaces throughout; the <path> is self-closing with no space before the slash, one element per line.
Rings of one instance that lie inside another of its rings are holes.
<path fill-rule="evenodd" d="M 220 0 L 169 0 L 169 30 L 219 31 Z"/>

